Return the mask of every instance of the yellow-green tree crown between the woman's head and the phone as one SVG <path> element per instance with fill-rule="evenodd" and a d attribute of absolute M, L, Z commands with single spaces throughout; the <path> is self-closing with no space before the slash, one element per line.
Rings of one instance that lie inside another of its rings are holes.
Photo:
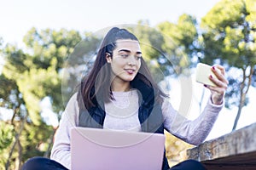
<path fill-rule="evenodd" d="M 166 56 L 169 56 L 176 73 L 188 74 L 193 66 L 194 56 L 200 50 L 198 45 L 197 21 L 193 16 L 182 14 L 177 24 L 168 21 L 160 23 L 158 28 L 165 35 L 162 45 Z"/>

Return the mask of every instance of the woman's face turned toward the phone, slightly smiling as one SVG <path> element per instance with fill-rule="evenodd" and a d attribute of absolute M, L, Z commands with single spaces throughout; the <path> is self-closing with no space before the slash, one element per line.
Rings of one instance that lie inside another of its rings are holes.
<path fill-rule="evenodd" d="M 141 58 L 139 42 L 130 39 L 118 40 L 113 57 L 107 57 L 113 71 L 113 81 L 131 82 L 140 69 Z"/>

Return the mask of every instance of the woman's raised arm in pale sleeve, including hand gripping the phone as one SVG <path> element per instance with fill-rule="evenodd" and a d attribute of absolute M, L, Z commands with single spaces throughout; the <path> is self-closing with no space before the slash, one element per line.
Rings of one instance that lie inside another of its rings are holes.
<path fill-rule="evenodd" d="M 201 144 L 207 138 L 218 117 L 218 112 L 224 105 L 224 94 L 229 84 L 225 78 L 224 67 L 214 65 L 212 72 L 216 77 L 209 75 L 209 79 L 216 84 L 216 87 L 205 85 L 211 91 L 211 98 L 201 116 L 194 121 L 189 121 L 177 114 L 169 102 L 165 101 L 162 105 L 166 130 L 189 144 Z"/>

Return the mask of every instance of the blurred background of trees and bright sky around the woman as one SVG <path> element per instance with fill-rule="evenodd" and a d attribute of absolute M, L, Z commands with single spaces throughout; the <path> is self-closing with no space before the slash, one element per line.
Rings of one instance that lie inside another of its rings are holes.
<path fill-rule="evenodd" d="M 255 0 L 9 0 L 0 19 L 0 169 L 49 157 L 67 100 L 111 26 L 137 35 L 155 80 L 191 120 L 209 98 L 195 65 L 224 65 L 225 107 L 207 140 L 256 122 Z M 171 165 L 191 147 L 166 133 Z"/>

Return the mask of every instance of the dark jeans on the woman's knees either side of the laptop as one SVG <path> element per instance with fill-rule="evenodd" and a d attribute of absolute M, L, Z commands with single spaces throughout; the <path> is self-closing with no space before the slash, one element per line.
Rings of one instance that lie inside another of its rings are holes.
<path fill-rule="evenodd" d="M 26 161 L 21 170 L 67 170 L 67 168 L 49 158 L 33 157 Z M 170 170 L 206 170 L 206 168 L 199 161 L 187 160 L 171 167 Z"/>

